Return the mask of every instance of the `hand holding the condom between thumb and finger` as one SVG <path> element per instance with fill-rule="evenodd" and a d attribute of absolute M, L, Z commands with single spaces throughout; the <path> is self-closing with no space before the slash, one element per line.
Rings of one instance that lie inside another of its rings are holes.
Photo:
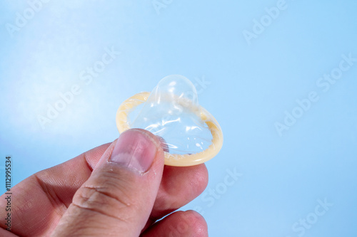
<path fill-rule="evenodd" d="M 14 186 L 11 232 L 0 221 L 0 236 L 208 236 L 195 211 L 170 214 L 207 182 L 204 164 L 164 167 L 159 139 L 128 130 Z M 3 218 L 4 195 L 0 206 Z"/>

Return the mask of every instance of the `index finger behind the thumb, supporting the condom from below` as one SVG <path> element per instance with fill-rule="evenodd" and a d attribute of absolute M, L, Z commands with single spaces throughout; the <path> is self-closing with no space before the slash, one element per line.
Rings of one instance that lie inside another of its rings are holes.
<path fill-rule="evenodd" d="M 11 231 L 20 236 L 46 236 L 56 227 L 77 189 L 90 177 L 101 156 L 111 144 L 80 154 L 63 164 L 45 169 L 14 186 L 14 223 Z M 177 168 L 177 169 L 176 169 Z M 199 177 L 199 178 L 197 178 Z M 196 167 L 165 167 L 151 218 L 169 214 L 201 194 L 207 185 L 204 164 Z M 179 194 L 179 195 L 178 195 Z M 0 206 L 5 205 L 3 196 Z M 0 209 L 0 216 L 6 215 Z M 1 228 L 6 228 L 0 222 Z"/>

